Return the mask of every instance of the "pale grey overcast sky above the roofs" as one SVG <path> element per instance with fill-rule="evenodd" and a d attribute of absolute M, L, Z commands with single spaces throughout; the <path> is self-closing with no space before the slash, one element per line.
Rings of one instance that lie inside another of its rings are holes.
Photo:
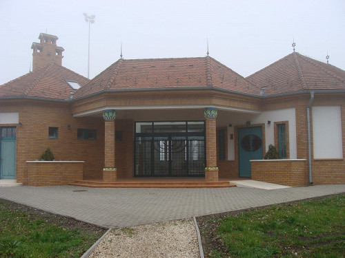
<path fill-rule="evenodd" d="M 345 69 L 345 1 L 0 0 L 0 85 L 29 72 L 40 32 L 59 37 L 62 65 L 90 78 L 119 59 L 210 56 L 248 76 L 296 51 Z"/>

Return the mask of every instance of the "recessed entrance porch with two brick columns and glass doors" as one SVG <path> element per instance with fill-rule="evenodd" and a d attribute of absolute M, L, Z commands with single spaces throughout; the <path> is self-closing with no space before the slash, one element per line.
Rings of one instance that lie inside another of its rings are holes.
<path fill-rule="evenodd" d="M 104 153 L 99 155 L 103 167 L 88 169 L 79 185 L 228 186 L 239 178 L 236 127 L 259 113 L 201 105 L 106 108 L 75 115 L 100 118 L 103 112 L 104 118 L 97 131 L 97 140 L 104 142 L 104 152 L 97 152 Z"/>

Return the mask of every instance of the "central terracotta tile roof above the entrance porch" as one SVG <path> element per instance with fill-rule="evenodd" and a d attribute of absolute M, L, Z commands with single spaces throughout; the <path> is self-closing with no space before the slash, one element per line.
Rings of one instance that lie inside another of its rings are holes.
<path fill-rule="evenodd" d="M 193 58 L 119 59 L 90 80 L 75 98 L 106 89 L 219 87 L 259 94 L 259 89 L 210 56 Z"/>

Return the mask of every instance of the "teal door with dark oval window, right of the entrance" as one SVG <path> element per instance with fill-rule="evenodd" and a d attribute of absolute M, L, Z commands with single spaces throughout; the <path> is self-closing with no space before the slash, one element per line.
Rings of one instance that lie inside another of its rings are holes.
<path fill-rule="evenodd" d="M 250 178 L 249 160 L 262 160 L 262 127 L 247 127 L 238 130 L 239 177 Z"/>

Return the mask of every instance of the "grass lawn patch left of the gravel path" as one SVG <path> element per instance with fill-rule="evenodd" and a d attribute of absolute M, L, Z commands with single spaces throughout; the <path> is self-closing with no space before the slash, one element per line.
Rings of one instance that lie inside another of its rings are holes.
<path fill-rule="evenodd" d="M 104 232 L 0 200 L 0 257 L 80 257 Z"/>

